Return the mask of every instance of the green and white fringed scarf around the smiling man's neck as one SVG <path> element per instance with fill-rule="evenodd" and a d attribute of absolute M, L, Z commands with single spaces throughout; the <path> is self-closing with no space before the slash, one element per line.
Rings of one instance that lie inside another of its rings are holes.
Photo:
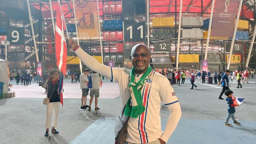
<path fill-rule="evenodd" d="M 145 71 L 140 80 L 135 82 L 135 69 L 132 68 L 130 73 L 130 82 L 128 84 L 130 98 L 126 103 L 126 109 L 124 111 L 124 115 L 130 116 L 132 118 L 138 118 L 140 114 L 145 111 L 145 107 L 142 103 L 142 95 L 140 88 L 145 84 L 146 80 L 150 77 L 152 68 L 151 66 Z M 132 106 L 130 105 L 132 103 Z"/>

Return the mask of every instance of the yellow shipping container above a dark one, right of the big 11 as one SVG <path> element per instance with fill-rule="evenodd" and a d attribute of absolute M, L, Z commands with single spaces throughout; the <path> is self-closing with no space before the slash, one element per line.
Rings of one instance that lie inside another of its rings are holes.
<path fill-rule="evenodd" d="M 153 17 L 153 27 L 174 27 L 174 17 Z"/>

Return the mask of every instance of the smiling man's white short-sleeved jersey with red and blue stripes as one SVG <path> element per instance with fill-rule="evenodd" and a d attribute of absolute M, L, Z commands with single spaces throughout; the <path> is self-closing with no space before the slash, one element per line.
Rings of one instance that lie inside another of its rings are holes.
<path fill-rule="evenodd" d="M 128 83 L 130 70 L 125 68 L 112 68 L 113 81 L 118 82 L 120 91 L 123 91 L 121 99 L 123 105 L 129 99 Z M 142 77 L 135 75 L 135 81 L 138 82 Z M 160 108 L 161 100 L 165 105 L 171 105 L 178 102 L 170 81 L 163 75 L 151 72 L 150 78 L 141 89 L 143 106 L 146 110 L 138 117 L 130 117 L 128 121 L 127 141 L 130 143 L 150 143 L 160 138 L 162 135 Z"/>

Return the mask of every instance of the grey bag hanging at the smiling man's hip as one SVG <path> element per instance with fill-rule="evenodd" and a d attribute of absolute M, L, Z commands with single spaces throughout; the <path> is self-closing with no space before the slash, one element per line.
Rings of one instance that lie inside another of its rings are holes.
<path fill-rule="evenodd" d="M 115 144 L 124 144 L 127 136 L 128 120 L 130 116 L 124 115 L 126 105 L 123 107 L 120 116 L 117 119 L 116 126 L 114 127 Z"/>

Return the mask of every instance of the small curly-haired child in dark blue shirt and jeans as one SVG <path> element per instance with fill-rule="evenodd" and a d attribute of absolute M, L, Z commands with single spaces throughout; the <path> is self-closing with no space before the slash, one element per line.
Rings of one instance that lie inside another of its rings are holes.
<path fill-rule="evenodd" d="M 233 91 L 231 90 L 226 90 L 224 92 L 224 94 L 227 96 L 226 98 L 226 102 L 227 102 L 227 105 L 228 105 L 228 117 L 226 118 L 226 121 L 225 121 L 225 126 L 232 126 L 232 124 L 229 124 L 229 119 L 232 118 L 233 121 L 234 121 L 234 124 L 238 124 L 238 125 L 241 125 L 239 122 L 237 122 L 235 120 L 235 106 L 238 106 L 239 105 L 235 105 L 234 102 L 233 102 L 233 99 L 236 99 L 236 97 L 233 97 Z"/>

